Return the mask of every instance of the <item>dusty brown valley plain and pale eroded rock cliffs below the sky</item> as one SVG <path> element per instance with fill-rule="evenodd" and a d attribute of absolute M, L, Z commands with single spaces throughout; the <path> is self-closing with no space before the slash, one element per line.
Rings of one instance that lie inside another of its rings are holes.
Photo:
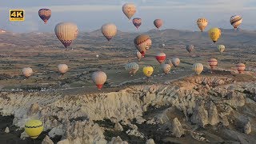
<path fill-rule="evenodd" d="M 256 142 L 256 32 L 222 30 L 216 44 L 206 33 L 146 34 L 153 46 L 141 62 L 135 58 L 135 33 L 119 31 L 107 42 L 99 30 L 81 32 L 68 51 L 54 34 L 0 34 L 0 143 L 33 142 L 22 133 L 30 118 L 45 123 L 38 143 Z M 191 55 L 186 44 L 195 46 Z M 218 44 L 226 46 L 222 55 Z M 181 64 L 162 74 L 154 58 L 159 51 Z M 214 74 L 209 58 L 218 59 Z M 127 62 L 140 66 L 133 77 L 124 69 Z M 195 62 L 205 66 L 200 76 L 191 70 Z M 246 64 L 245 74 L 238 74 L 238 62 Z M 57 72 L 59 63 L 70 67 L 64 76 Z M 150 82 L 142 74 L 146 65 L 154 66 Z M 28 79 L 21 74 L 26 66 L 34 70 Z M 90 80 L 95 70 L 107 74 L 102 90 Z"/>

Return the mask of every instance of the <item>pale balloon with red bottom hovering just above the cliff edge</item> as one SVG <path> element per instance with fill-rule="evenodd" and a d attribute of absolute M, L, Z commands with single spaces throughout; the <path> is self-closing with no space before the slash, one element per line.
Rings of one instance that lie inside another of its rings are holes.
<path fill-rule="evenodd" d="M 101 90 L 102 86 L 106 82 L 106 74 L 103 71 L 96 71 L 92 74 L 91 78 L 98 87 L 98 90 Z"/>

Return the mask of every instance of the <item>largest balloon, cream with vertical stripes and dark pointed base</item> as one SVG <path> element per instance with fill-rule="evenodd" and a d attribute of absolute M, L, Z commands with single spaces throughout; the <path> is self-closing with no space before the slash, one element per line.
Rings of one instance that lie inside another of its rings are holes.
<path fill-rule="evenodd" d="M 60 22 L 55 26 L 54 32 L 59 41 L 67 47 L 78 37 L 78 26 L 72 22 Z"/>

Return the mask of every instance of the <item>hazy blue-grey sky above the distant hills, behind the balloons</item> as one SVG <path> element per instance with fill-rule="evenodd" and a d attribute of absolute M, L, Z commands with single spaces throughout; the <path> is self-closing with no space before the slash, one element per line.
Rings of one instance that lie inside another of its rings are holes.
<path fill-rule="evenodd" d="M 256 30 L 256 0 L 6 0 L 0 2 L 0 28 L 14 32 L 54 32 L 58 22 L 74 22 L 80 31 L 98 30 L 104 23 L 113 22 L 118 30 L 136 31 L 122 13 L 122 5 L 134 2 L 142 18 L 140 31 L 154 29 L 153 21 L 162 18 L 161 29 L 198 30 L 196 20 L 209 20 L 206 30 L 217 26 L 232 28 L 230 16 L 242 15 L 242 29 Z M 43 24 L 38 17 L 40 8 L 50 8 L 52 16 Z M 24 22 L 10 22 L 9 10 L 25 10 Z"/>

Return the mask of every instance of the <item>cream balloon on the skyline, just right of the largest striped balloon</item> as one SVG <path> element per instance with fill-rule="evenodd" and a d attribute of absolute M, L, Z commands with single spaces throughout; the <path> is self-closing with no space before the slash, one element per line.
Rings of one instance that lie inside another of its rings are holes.
<path fill-rule="evenodd" d="M 113 23 L 106 23 L 102 26 L 102 34 L 110 41 L 118 33 L 118 28 Z"/>

